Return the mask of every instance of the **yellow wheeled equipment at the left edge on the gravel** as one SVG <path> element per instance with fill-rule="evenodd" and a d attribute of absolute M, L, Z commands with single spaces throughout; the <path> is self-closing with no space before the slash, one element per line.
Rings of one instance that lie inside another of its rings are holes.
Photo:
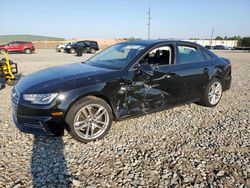
<path fill-rule="evenodd" d="M 18 73 L 17 64 L 9 60 L 8 53 L 4 54 L 4 58 L 0 60 L 0 78 L 2 78 L 7 85 L 15 85 Z"/>

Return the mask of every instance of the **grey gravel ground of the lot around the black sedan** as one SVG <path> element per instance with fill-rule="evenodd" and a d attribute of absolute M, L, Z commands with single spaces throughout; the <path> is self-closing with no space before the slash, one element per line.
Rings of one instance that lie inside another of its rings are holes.
<path fill-rule="evenodd" d="M 0 187 L 250 187 L 250 53 L 217 52 L 233 64 L 220 104 L 183 105 L 117 122 L 102 140 L 35 137 L 13 125 L 0 91 Z M 82 61 L 54 50 L 11 54 L 19 70 Z"/>

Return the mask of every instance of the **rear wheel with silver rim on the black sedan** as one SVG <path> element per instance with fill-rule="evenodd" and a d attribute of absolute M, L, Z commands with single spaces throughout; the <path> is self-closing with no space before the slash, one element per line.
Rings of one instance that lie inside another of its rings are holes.
<path fill-rule="evenodd" d="M 206 86 L 202 98 L 201 104 L 207 107 L 216 106 L 222 97 L 223 88 L 219 79 L 213 78 Z"/>

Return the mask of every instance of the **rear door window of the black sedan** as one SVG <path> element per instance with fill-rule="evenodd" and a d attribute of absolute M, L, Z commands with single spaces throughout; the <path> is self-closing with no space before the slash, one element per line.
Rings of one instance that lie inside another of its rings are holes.
<path fill-rule="evenodd" d="M 198 63 L 204 60 L 202 54 L 194 47 L 190 46 L 178 46 L 179 51 L 179 63 Z"/>

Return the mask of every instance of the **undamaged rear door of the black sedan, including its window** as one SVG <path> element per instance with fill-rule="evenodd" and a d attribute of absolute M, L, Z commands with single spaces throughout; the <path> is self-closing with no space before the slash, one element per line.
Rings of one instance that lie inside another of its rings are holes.
<path fill-rule="evenodd" d="M 181 92 L 178 101 L 197 101 L 209 82 L 209 72 L 213 64 L 205 61 L 198 47 L 185 42 L 178 42 L 177 54 L 177 63 L 173 68 L 179 76 Z"/>

